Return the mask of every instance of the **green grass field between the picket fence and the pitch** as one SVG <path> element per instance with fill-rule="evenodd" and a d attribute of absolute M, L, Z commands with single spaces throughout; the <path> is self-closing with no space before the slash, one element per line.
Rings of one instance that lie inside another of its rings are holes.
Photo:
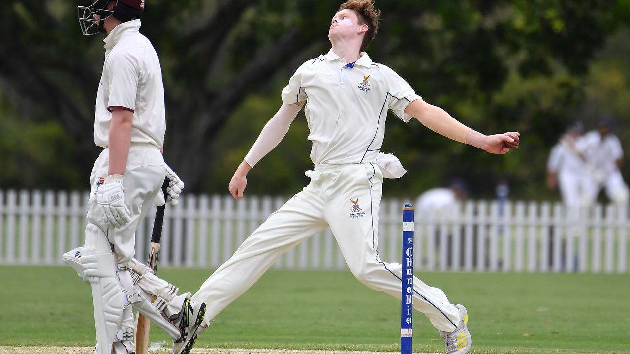
<path fill-rule="evenodd" d="M 159 273 L 194 292 L 211 271 Z M 416 275 L 466 305 L 473 353 L 630 353 L 629 275 Z M 70 268 L 0 266 L 0 278 L 0 346 L 94 345 L 89 287 Z M 399 317 L 398 301 L 349 271 L 268 271 L 196 346 L 396 351 Z M 444 351 L 420 312 L 414 334 L 415 351 Z"/>

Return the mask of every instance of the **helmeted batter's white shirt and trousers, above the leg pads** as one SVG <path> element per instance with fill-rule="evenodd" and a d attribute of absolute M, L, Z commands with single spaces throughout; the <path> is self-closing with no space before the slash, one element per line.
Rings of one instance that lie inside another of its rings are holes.
<path fill-rule="evenodd" d="M 151 42 L 140 34 L 140 20 L 116 26 L 105 42 L 103 76 L 96 96 L 94 136 L 103 151 L 90 174 L 92 194 L 88 205 L 88 223 L 108 235 L 119 263 L 127 263 L 135 253 L 135 230 L 151 208 L 164 182 L 164 159 L 159 149 L 166 132 L 164 86 L 159 59 Z M 123 174 L 125 205 L 130 222 L 119 229 L 108 229 L 101 219 L 103 208 L 96 200 L 96 190 L 108 175 L 109 130 L 112 108 L 134 112 L 131 147 Z"/>

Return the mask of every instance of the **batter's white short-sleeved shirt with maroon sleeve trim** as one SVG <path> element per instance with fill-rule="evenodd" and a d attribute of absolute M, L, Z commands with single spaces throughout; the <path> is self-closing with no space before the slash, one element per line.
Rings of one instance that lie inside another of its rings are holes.
<path fill-rule="evenodd" d="M 140 34 L 140 20 L 115 26 L 104 40 L 105 64 L 96 95 L 94 142 L 109 146 L 112 108 L 134 112 L 132 143 L 161 148 L 166 132 L 164 86 L 157 53 Z"/>

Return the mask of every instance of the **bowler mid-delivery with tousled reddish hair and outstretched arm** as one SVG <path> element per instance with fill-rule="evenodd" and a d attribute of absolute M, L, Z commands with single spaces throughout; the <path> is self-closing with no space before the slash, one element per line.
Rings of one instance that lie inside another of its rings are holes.
<path fill-rule="evenodd" d="M 505 154 L 518 147 L 518 133 L 479 134 L 423 101 L 392 69 L 373 62 L 363 50 L 374 38 L 379 16 L 370 0 L 341 5 L 329 28 L 332 49 L 304 62 L 289 79 L 282 91 L 284 104 L 234 173 L 229 191 L 240 199 L 249 169 L 277 146 L 306 103 L 315 165 L 306 173 L 311 183 L 258 227 L 193 295 L 208 305 L 200 331 L 278 256 L 327 227 L 360 282 L 401 298 L 401 265 L 382 261 L 376 250 L 382 178 L 404 172 L 398 159 L 379 154 L 387 108 L 403 122 L 416 117 L 439 134 L 488 152 Z M 417 278 L 414 290 L 415 308 L 440 331 L 447 353 L 466 353 L 471 346 L 466 309 Z"/>

